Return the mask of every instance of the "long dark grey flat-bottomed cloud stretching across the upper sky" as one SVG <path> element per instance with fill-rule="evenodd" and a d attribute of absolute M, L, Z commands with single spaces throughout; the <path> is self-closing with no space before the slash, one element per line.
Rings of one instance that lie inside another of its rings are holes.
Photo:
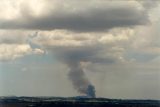
<path fill-rule="evenodd" d="M 82 7 L 81 7 L 82 8 Z M 85 7 L 83 7 L 85 8 Z M 110 8 L 91 8 L 84 11 L 70 12 L 57 10 L 48 15 L 35 17 L 28 15 L 16 20 L 1 21 L 1 29 L 34 29 L 71 31 L 104 31 L 114 27 L 132 27 L 149 22 L 147 14 L 135 6 L 113 6 Z M 26 15 L 27 14 L 27 15 Z"/>

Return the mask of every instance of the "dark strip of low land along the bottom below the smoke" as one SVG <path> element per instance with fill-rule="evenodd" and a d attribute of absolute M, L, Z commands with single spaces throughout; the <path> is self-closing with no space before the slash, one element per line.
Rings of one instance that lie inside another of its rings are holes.
<path fill-rule="evenodd" d="M 0 107 L 160 107 L 160 101 L 85 97 L 1 97 Z"/>

